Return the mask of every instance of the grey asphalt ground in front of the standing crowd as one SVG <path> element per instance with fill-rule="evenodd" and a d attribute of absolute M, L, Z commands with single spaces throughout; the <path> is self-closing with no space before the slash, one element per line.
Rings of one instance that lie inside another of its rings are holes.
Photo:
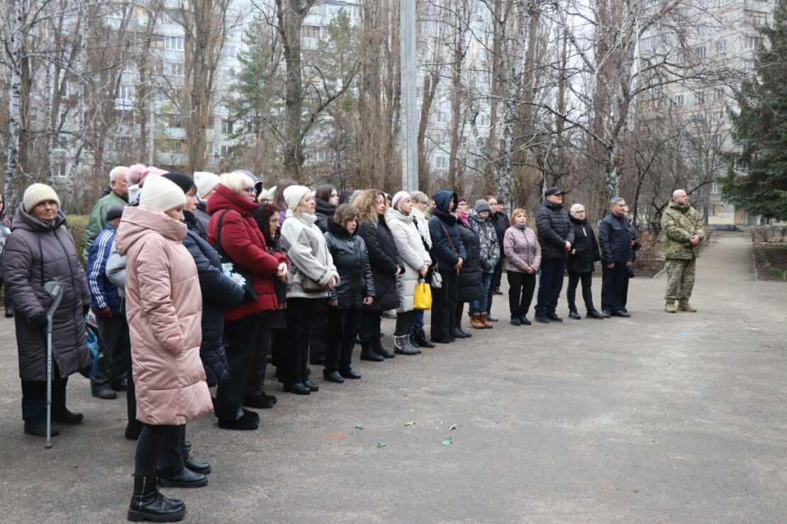
<path fill-rule="evenodd" d="M 190 522 L 784 522 L 787 285 L 754 282 L 736 236 L 700 258 L 699 313 L 664 313 L 664 284 L 632 281 L 630 319 L 501 321 L 419 357 L 358 362 L 364 379 L 318 379 L 306 398 L 271 383 L 279 404 L 260 431 L 189 424 L 214 473 L 166 493 Z M 86 422 L 45 450 L 22 434 L 13 322 L 0 337 L 2 520 L 122 521 L 124 400 L 72 379 Z"/>

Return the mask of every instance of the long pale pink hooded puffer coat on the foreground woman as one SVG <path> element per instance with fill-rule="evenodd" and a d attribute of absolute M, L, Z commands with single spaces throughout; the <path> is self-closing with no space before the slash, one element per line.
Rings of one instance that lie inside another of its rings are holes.
<path fill-rule="evenodd" d="M 180 425 L 212 412 L 199 357 L 202 295 L 186 225 L 160 211 L 129 207 L 117 229 L 127 256 L 126 317 L 137 420 Z"/>

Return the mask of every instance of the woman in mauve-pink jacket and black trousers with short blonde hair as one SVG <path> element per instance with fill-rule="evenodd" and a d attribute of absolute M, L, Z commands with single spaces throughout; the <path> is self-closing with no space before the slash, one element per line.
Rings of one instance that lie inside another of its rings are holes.
<path fill-rule="evenodd" d="M 533 229 L 527 227 L 527 211 L 519 208 L 512 211 L 511 226 L 505 230 L 503 247 L 511 323 L 529 326 L 527 310 L 530 309 L 530 302 L 533 302 L 536 273 L 541 266 L 541 244 L 538 244 Z"/>

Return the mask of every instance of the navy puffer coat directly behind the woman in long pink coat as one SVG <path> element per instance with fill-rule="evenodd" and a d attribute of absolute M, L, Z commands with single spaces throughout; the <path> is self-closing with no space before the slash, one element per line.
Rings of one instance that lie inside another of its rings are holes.
<path fill-rule="evenodd" d="M 224 353 L 224 308 L 239 306 L 244 291 L 240 284 L 224 274 L 216 249 L 198 233 L 198 218 L 189 211 L 183 214 L 188 227 L 183 245 L 194 258 L 202 293 L 199 356 L 205 368 L 205 380 L 212 387 L 228 372 L 227 354 Z"/>

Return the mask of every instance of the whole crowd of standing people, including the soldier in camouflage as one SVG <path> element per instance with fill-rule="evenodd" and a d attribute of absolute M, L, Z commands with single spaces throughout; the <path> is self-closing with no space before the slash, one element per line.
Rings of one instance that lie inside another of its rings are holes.
<path fill-rule="evenodd" d="M 685 213 L 685 192 L 675 202 Z M 42 330 L 50 280 L 63 284 L 53 321 L 51 432 L 83 420 L 66 407 L 75 372 L 90 376 L 98 398 L 127 390 L 125 436 L 137 442 L 132 521 L 183 518 L 183 502 L 159 487 L 205 486 L 211 472 L 194 460 L 187 423 L 213 412 L 220 428 L 256 430 L 254 410 L 277 401 L 265 392 L 269 363 L 284 391 L 309 395 L 320 390 L 311 366 L 323 366 L 327 382 L 361 379 L 353 368 L 356 344 L 361 360 L 381 362 L 470 338 L 470 330 L 498 321 L 491 308 L 503 273 L 514 326 L 531 324 L 536 294 L 534 320 L 563 321 L 556 307 L 566 269 L 569 317 L 581 318 L 579 284 L 586 317 L 630 316 L 626 295 L 639 241 L 622 198 L 611 200 L 598 237 L 581 204 L 563 209 L 558 188 L 545 191 L 536 230 L 526 210 L 504 209 L 494 196 L 470 205 L 453 191 L 312 191 L 287 180 L 265 189 L 248 171 L 187 176 L 136 164 L 110 172 L 85 233 L 83 270 L 57 193 L 30 185 L 13 219 L 3 214 L 0 223 L 24 432 L 46 434 Z M 675 257 L 696 258 L 704 232 L 685 237 L 682 215 L 670 219 L 677 232 L 670 238 L 689 244 Z M 689 262 L 670 271 L 693 284 Z M 591 289 L 599 263 L 601 311 Z M 690 287 L 670 285 L 667 305 L 674 296 L 680 310 L 693 311 Z M 386 312 L 396 318 L 391 339 L 381 329 Z M 91 367 L 92 325 L 103 349 L 100 368 Z"/>

